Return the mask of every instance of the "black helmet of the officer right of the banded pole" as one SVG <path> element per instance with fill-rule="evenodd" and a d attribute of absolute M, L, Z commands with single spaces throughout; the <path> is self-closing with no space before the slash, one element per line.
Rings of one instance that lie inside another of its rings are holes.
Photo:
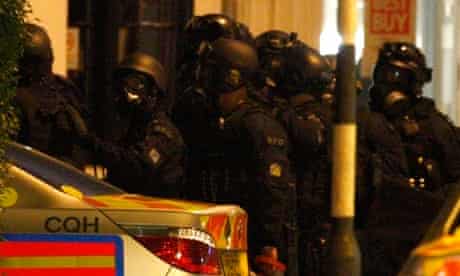
<path fill-rule="evenodd" d="M 380 48 L 373 80 L 417 89 L 431 81 L 431 68 L 427 67 L 425 56 L 414 44 L 386 42 Z"/>

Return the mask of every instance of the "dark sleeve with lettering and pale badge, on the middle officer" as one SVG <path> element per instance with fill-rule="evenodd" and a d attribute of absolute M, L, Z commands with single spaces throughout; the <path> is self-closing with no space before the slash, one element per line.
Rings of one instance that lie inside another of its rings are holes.
<path fill-rule="evenodd" d="M 252 148 L 257 183 L 250 190 L 250 228 L 256 253 L 276 246 L 289 266 L 289 247 L 295 240 L 296 192 L 290 172 L 288 140 L 284 129 L 263 113 L 249 114 L 245 130 Z M 253 252 L 254 253 L 254 252 Z"/>

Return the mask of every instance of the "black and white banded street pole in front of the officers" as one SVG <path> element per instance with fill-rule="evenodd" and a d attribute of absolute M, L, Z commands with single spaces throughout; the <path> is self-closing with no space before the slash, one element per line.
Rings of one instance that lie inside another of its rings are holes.
<path fill-rule="evenodd" d="M 332 233 L 325 259 L 327 276 L 361 275 L 361 253 L 354 233 L 356 182 L 356 0 L 339 0 L 338 29 L 342 45 L 337 57 L 337 114 L 333 128 Z"/>

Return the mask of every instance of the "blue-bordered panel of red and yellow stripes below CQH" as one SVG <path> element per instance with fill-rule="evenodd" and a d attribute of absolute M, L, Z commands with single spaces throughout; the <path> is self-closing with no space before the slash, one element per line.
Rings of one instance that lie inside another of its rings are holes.
<path fill-rule="evenodd" d="M 123 240 L 109 235 L 3 234 L 0 275 L 123 276 Z"/>

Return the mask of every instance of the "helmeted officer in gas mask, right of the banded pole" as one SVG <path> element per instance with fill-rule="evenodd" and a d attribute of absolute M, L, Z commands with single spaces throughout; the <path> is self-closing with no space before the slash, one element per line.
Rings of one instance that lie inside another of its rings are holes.
<path fill-rule="evenodd" d="M 443 193 L 460 177 L 460 144 L 455 126 L 422 96 L 431 69 L 410 43 L 385 43 L 370 90 L 371 108 L 385 114 L 402 136 L 409 164 L 409 185 Z"/>

